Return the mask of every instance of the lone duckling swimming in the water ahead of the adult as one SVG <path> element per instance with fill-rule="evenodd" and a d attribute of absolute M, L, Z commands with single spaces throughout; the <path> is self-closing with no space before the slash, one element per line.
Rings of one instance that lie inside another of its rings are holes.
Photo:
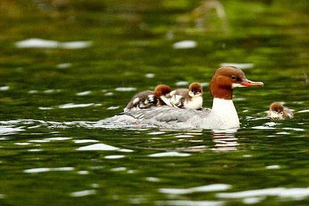
<path fill-rule="evenodd" d="M 289 108 L 283 106 L 280 102 L 273 102 L 269 106 L 267 116 L 271 117 L 271 119 L 292 119 L 294 114 L 293 111 L 290 111 Z"/>

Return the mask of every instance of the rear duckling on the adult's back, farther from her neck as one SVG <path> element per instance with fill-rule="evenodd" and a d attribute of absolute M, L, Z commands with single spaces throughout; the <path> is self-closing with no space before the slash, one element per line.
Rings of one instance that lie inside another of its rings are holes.
<path fill-rule="evenodd" d="M 155 88 L 155 91 L 141 91 L 134 95 L 132 100 L 130 100 L 128 105 L 124 108 L 124 112 L 161 106 L 164 102 L 160 97 L 170 93 L 170 91 L 172 91 L 172 89 L 165 84 L 159 84 Z"/>

